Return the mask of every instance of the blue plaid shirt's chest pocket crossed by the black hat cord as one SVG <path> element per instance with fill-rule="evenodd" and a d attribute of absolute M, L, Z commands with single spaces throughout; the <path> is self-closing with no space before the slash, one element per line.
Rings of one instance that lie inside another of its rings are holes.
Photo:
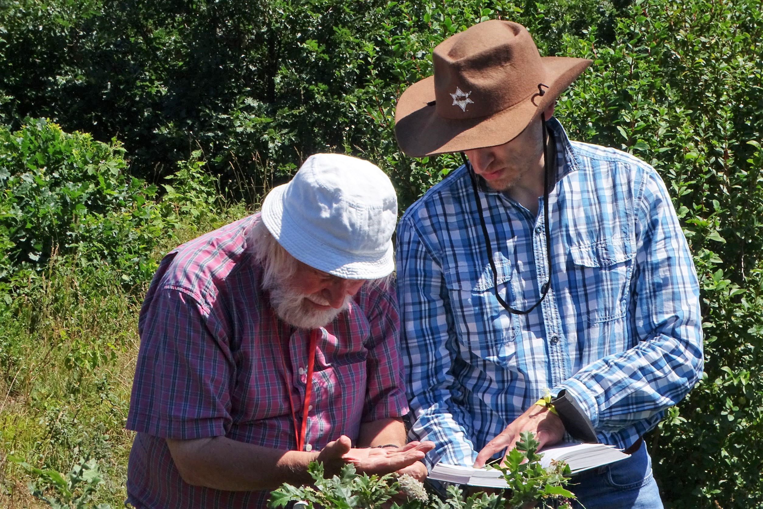
<path fill-rule="evenodd" d="M 494 256 L 498 293 L 510 303 L 514 299 L 511 262 L 501 253 Z M 506 363 L 514 354 L 516 324 L 495 298 L 490 264 L 454 267 L 446 272 L 445 280 L 462 350 L 489 362 Z"/>

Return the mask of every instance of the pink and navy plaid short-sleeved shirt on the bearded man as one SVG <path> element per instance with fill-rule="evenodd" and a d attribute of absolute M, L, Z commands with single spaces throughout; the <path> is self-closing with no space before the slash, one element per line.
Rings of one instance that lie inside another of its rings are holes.
<path fill-rule="evenodd" d="M 140 310 L 127 429 L 137 431 L 127 467 L 136 507 L 266 507 L 269 492 L 220 491 L 182 481 L 165 438 L 225 436 L 295 449 L 287 390 L 301 421 L 310 331 L 275 318 L 246 249 L 259 214 L 169 253 Z M 275 327 L 274 327 L 275 324 Z M 406 414 L 394 292 L 365 285 L 318 340 L 306 449 L 359 426 Z M 288 388 L 278 341 L 282 341 Z M 299 423 L 301 424 L 301 423 Z"/>

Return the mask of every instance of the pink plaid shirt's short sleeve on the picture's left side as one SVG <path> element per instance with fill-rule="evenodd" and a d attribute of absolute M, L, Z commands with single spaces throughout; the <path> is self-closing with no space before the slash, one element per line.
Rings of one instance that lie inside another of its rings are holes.
<path fill-rule="evenodd" d="M 185 288 L 150 292 L 140 317 L 140 352 L 128 430 L 191 440 L 230 427 L 233 357 L 227 335 Z"/>

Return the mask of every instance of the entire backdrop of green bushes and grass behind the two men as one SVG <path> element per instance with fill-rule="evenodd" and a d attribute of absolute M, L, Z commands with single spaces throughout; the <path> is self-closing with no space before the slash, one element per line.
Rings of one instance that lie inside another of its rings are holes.
<path fill-rule="evenodd" d="M 121 505 L 137 310 L 162 253 L 319 151 L 377 163 L 404 210 L 458 162 L 402 156 L 396 100 L 439 41 L 492 18 L 594 60 L 556 116 L 655 166 L 691 243 L 706 372 L 647 437 L 666 506 L 763 504 L 759 0 L 5 0 L 0 505 L 37 503 L 8 454 L 96 459 L 93 503 Z"/>

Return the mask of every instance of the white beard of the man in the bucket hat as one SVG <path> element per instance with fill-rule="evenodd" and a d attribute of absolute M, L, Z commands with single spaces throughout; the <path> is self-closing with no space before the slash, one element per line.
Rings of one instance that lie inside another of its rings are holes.
<path fill-rule="evenodd" d="M 317 309 L 306 301 L 313 301 L 324 306 L 329 305 L 329 302 L 320 295 L 298 293 L 280 283 L 269 288 L 269 290 L 270 305 L 275 314 L 287 324 L 302 329 L 317 329 L 330 324 L 342 311 L 346 311 L 349 301 L 353 298 L 352 295 L 347 295 L 339 309 Z"/>

